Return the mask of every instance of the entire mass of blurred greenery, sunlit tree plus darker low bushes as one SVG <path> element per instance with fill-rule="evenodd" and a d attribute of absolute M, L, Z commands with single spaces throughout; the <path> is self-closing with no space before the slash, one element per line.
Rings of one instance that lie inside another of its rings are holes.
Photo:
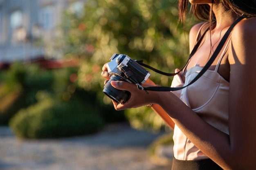
<path fill-rule="evenodd" d="M 17 62 L 2 71 L 0 124 L 11 119 L 19 137 L 63 137 L 124 121 L 125 113 L 134 128 L 163 128 L 164 122 L 150 108 L 115 111 L 102 93 L 101 67 L 113 53 L 143 59 L 165 72 L 182 67 L 189 53 L 186 28 L 195 21 L 188 19 L 185 28 L 178 24 L 177 1 L 87 0 L 82 12 L 65 11 L 55 45 L 47 48 L 79 59 L 80 67 L 46 70 Z M 151 71 L 150 79 L 170 86 L 172 77 Z"/>

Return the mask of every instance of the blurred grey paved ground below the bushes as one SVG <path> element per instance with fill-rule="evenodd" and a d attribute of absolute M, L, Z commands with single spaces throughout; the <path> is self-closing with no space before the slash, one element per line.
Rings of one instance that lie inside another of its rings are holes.
<path fill-rule="evenodd" d="M 150 161 L 159 135 L 115 124 L 90 136 L 18 140 L 0 127 L 0 170 L 170 170 Z"/>

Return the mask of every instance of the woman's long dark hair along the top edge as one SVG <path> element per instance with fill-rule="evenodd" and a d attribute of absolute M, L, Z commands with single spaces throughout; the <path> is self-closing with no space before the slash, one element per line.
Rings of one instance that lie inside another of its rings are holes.
<path fill-rule="evenodd" d="M 186 20 L 188 3 L 188 0 L 179 0 L 179 18 L 182 23 Z M 231 10 L 237 15 L 243 14 L 247 18 L 256 17 L 256 0 L 220 0 L 220 3 L 223 3 L 227 10 Z M 191 10 L 199 20 L 215 20 L 209 4 L 192 4 Z"/>

